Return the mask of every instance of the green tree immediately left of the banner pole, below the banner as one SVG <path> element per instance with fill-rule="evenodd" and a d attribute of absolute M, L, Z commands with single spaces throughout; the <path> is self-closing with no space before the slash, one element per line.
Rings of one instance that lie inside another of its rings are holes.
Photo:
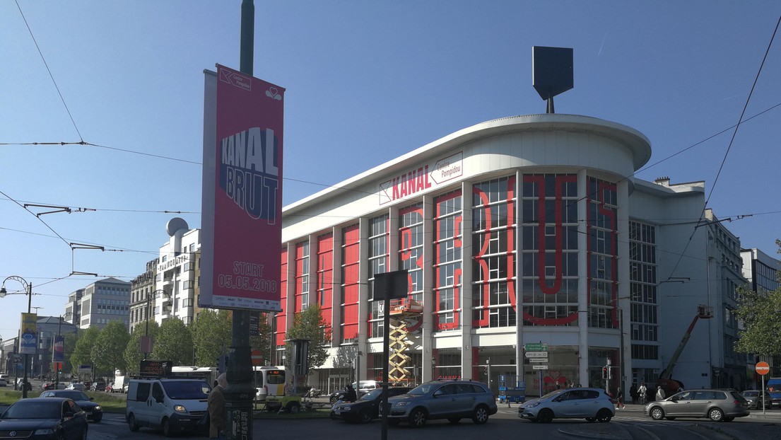
<path fill-rule="evenodd" d="M 195 365 L 216 367 L 217 358 L 230 345 L 231 317 L 227 310 L 201 309 L 191 325 Z"/>

